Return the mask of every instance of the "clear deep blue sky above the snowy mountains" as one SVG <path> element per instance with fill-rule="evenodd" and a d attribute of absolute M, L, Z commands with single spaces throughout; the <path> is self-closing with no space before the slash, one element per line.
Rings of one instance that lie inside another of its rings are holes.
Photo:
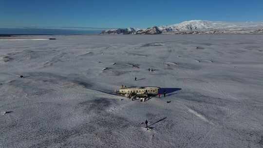
<path fill-rule="evenodd" d="M 0 0 L 2 28 L 146 28 L 192 19 L 263 21 L 263 0 Z"/>

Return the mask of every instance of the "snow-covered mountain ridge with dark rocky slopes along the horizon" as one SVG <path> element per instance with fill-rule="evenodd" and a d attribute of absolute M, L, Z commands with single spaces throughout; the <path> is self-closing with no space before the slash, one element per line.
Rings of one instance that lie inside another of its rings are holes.
<path fill-rule="evenodd" d="M 105 30 L 110 35 L 158 35 L 158 34 L 262 34 L 263 22 L 223 22 L 190 20 L 169 26 L 153 26 L 147 29 L 124 28 Z"/>

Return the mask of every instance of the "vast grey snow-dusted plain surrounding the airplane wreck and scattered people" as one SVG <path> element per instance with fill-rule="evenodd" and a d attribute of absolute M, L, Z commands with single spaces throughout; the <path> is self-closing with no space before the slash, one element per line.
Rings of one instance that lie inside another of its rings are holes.
<path fill-rule="evenodd" d="M 263 35 L 50 37 L 0 40 L 0 148 L 263 147 Z"/>

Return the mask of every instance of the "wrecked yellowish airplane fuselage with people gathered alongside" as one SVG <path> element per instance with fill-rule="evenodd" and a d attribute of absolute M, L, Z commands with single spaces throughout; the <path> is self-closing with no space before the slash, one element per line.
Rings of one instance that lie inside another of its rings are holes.
<path fill-rule="evenodd" d="M 159 87 L 123 87 L 120 88 L 119 94 L 125 95 L 130 99 L 139 98 L 142 102 L 149 99 L 150 96 L 159 94 Z"/>

